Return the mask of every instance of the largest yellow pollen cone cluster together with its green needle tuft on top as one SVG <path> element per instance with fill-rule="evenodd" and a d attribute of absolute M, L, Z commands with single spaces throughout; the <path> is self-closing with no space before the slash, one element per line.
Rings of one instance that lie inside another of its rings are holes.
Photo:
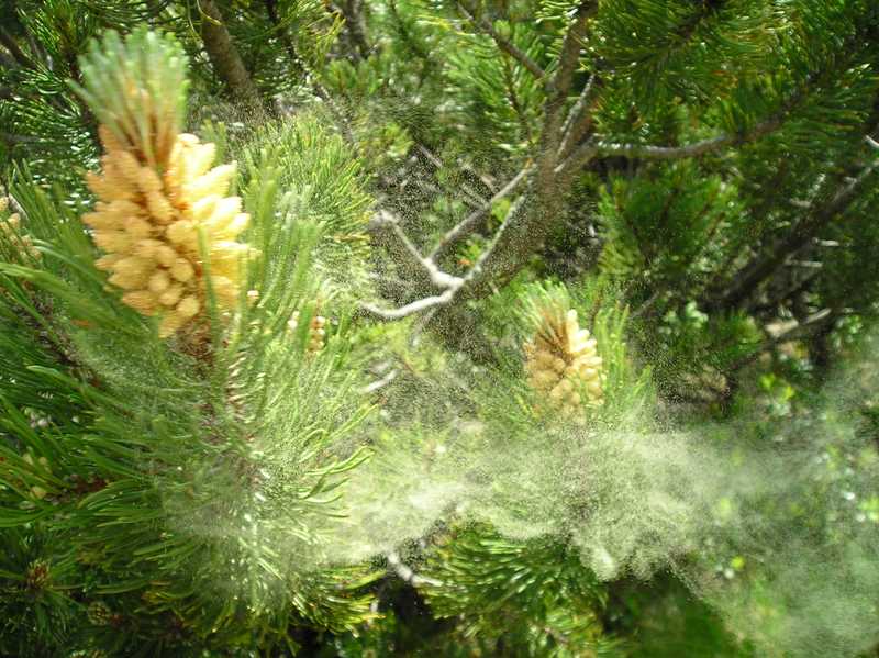
<path fill-rule="evenodd" d="M 98 202 L 82 216 L 104 252 L 96 266 L 125 304 L 159 319 L 162 337 L 204 321 L 209 288 L 234 310 L 252 255 L 236 239 L 251 218 L 229 194 L 234 163 L 212 168 L 214 145 L 181 132 L 182 48 L 146 27 L 111 31 L 81 68 L 75 90 L 99 119 L 104 149 L 100 174 L 86 177 Z"/>

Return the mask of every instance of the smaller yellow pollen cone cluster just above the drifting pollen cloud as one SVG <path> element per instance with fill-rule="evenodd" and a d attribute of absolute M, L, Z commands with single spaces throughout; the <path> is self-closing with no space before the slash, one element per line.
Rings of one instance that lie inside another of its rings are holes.
<path fill-rule="evenodd" d="M 528 383 L 541 406 L 565 416 L 582 416 L 586 406 L 603 403 L 603 372 L 596 339 L 580 328 L 577 311 L 550 306 L 541 311 L 532 341 L 524 344 Z"/>

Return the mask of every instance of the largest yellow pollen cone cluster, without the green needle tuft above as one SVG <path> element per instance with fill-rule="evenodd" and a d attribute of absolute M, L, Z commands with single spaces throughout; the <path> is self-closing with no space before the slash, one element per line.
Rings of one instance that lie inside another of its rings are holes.
<path fill-rule="evenodd" d="M 209 269 L 218 304 L 234 308 L 248 253 L 235 237 L 249 221 L 241 199 L 225 196 L 234 165 L 211 168 L 213 144 L 186 133 L 165 167 L 144 163 L 105 126 L 100 135 L 103 170 L 87 180 L 99 201 L 82 220 L 105 252 L 97 266 L 111 272 L 122 301 L 160 315 L 159 335 L 169 336 L 204 309 Z"/>

